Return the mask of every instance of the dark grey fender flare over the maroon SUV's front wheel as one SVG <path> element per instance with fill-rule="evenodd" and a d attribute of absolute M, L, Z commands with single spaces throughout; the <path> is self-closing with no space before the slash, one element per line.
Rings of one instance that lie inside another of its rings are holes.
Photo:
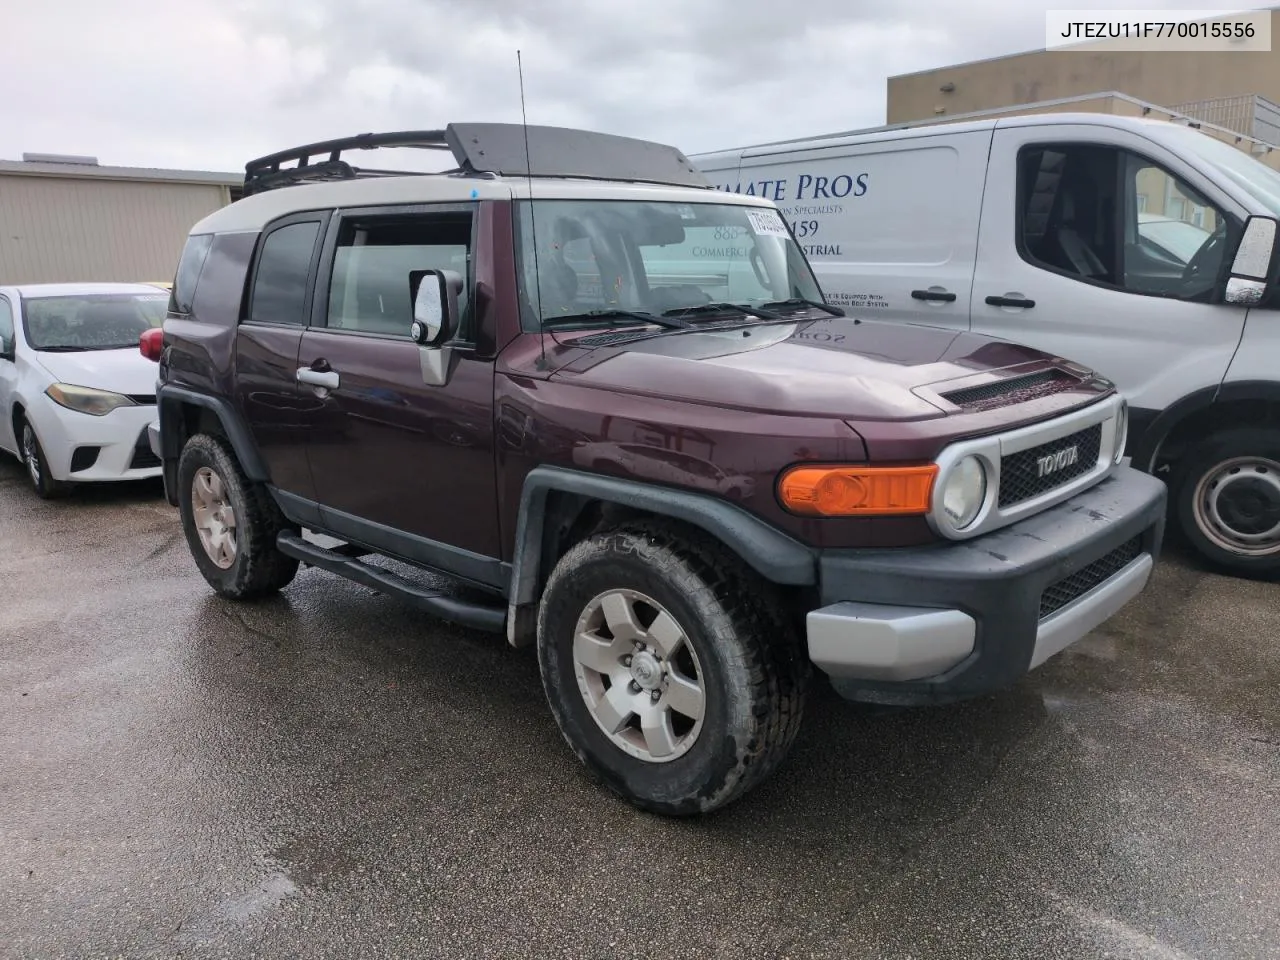
<path fill-rule="evenodd" d="M 681 520 L 716 536 L 765 580 L 787 586 L 818 582 L 813 548 L 732 503 L 687 490 L 540 466 L 529 471 L 520 494 L 511 571 L 512 607 L 538 602 L 544 573 L 547 499 L 552 493 L 576 494 Z"/>

